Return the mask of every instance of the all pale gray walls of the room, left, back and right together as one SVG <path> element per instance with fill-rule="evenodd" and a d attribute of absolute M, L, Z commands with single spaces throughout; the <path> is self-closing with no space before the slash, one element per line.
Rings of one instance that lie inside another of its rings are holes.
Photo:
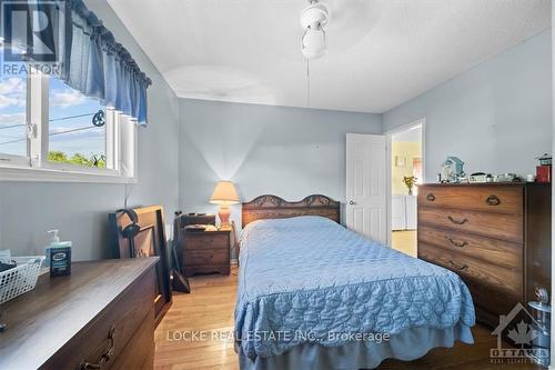
<path fill-rule="evenodd" d="M 496 56 L 382 114 L 176 99 L 105 1 L 87 1 L 151 77 L 150 126 L 139 134 L 138 184 L 129 206 L 214 212 L 219 179 L 243 200 L 321 192 L 344 201 L 345 133 L 382 133 L 426 118 L 426 174 L 447 154 L 467 170 L 534 172 L 552 151 L 551 31 Z M 39 253 L 46 231 L 72 240 L 75 260 L 108 257 L 105 214 L 123 206 L 120 184 L 0 182 L 0 248 Z M 239 207 L 234 208 L 234 219 Z"/>

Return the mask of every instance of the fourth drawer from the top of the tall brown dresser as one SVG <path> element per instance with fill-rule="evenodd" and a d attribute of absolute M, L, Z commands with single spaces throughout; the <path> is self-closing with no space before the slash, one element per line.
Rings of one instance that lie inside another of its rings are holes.
<path fill-rule="evenodd" d="M 418 258 L 440 264 L 476 284 L 522 297 L 522 272 L 502 266 L 494 266 L 475 258 L 446 251 L 442 248 L 418 243 Z"/>

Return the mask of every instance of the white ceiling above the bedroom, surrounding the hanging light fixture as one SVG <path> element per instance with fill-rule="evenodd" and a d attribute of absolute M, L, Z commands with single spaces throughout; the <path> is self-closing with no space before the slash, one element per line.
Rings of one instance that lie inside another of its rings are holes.
<path fill-rule="evenodd" d="M 108 0 L 179 97 L 306 107 L 303 0 Z M 310 107 L 384 112 L 551 26 L 549 0 L 325 0 Z"/>

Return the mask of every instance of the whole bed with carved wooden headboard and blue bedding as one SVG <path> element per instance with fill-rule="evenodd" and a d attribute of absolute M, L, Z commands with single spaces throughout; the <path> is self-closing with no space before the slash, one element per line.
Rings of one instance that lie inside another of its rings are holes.
<path fill-rule="evenodd" d="M 458 276 L 346 230 L 330 198 L 262 196 L 242 216 L 241 369 L 372 369 L 473 343 Z"/>

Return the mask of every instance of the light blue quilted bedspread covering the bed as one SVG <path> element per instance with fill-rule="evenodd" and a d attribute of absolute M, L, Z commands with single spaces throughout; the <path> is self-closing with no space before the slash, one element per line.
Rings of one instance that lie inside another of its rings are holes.
<path fill-rule="evenodd" d="M 354 333 L 457 324 L 474 324 L 474 307 L 446 269 L 320 217 L 261 220 L 243 230 L 235 336 L 251 358 L 306 342 L 342 346 Z"/>

